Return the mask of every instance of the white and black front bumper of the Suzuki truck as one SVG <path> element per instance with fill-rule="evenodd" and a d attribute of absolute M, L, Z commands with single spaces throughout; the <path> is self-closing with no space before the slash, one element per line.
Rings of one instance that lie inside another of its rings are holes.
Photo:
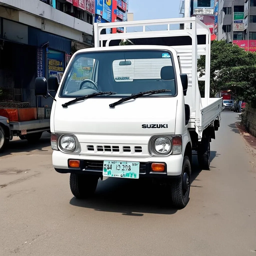
<path fill-rule="evenodd" d="M 80 160 L 80 168 L 69 168 L 69 159 Z M 140 178 L 176 178 L 180 177 L 182 173 L 183 155 L 170 155 L 168 157 L 103 157 L 65 154 L 56 150 L 52 153 L 52 164 L 59 173 L 102 176 L 104 160 L 140 162 Z M 165 172 L 152 172 L 151 163 L 165 163 Z"/>

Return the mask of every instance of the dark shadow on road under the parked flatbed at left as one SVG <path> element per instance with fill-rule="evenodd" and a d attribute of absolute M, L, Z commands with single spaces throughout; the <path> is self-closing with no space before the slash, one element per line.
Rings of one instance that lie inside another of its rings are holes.
<path fill-rule="evenodd" d="M 15 139 L 10 141 L 5 151 L 0 154 L 1 156 L 11 155 L 13 153 L 40 151 L 42 154 L 51 154 L 51 151 L 44 150 L 43 148 L 51 145 L 50 134 L 43 134 L 37 143 L 29 143 L 27 140 Z"/>

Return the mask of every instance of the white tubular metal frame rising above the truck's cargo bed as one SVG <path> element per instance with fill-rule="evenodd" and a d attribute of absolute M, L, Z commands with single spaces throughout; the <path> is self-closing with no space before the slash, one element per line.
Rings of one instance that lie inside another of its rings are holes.
<path fill-rule="evenodd" d="M 170 30 L 170 24 L 191 23 L 192 29 Z M 146 31 L 146 26 L 167 25 L 167 30 Z M 129 27 L 143 27 L 142 32 L 126 32 Z M 104 34 L 101 30 L 104 28 L 123 27 L 124 33 Z M 205 45 L 205 98 L 207 105 L 210 98 L 210 52 L 211 52 L 211 33 L 209 27 L 202 23 L 196 17 L 190 18 L 174 18 L 174 19 L 156 19 L 156 20 L 136 20 L 130 22 L 112 22 L 112 23 L 94 23 L 94 41 L 95 47 L 103 47 L 103 41 L 106 41 L 106 47 L 109 46 L 111 40 L 135 39 L 135 38 L 153 38 L 153 37 L 171 37 L 171 36 L 190 36 L 192 38 L 192 95 L 193 101 L 199 101 L 200 95 L 197 94 L 197 35 L 206 35 Z M 199 111 L 196 111 L 199 114 Z M 198 116 L 199 118 L 199 116 Z"/>

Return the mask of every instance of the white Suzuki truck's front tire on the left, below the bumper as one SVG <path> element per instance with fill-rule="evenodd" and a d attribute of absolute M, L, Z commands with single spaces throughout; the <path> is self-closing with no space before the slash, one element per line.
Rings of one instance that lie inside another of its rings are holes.
<path fill-rule="evenodd" d="M 98 176 L 70 173 L 69 185 L 71 192 L 77 199 L 89 198 L 94 194 L 98 180 Z"/>

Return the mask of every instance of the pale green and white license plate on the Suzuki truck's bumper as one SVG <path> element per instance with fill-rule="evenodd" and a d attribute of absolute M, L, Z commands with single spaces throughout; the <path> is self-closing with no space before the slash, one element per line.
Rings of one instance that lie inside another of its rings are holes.
<path fill-rule="evenodd" d="M 138 179 L 140 173 L 140 163 L 138 162 L 120 162 L 104 161 L 103 176 Z"/>

